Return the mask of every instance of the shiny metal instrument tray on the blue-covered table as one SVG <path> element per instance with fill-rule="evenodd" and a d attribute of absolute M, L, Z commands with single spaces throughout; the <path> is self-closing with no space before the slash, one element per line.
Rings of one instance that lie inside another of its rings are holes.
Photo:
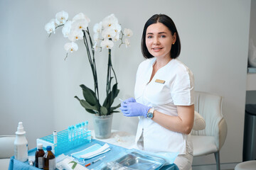
<path fill-rule="evenodd" d="M 119 167 L 127 169 L 152 170 L 160 169 L 165 164 L 165 160 L 159 157 L 154 157 L 141 152 L 130 152 L 123 157 L 115 160 Z M 110 167 L 105 166 L 102 170 L 109 170 Z"/>

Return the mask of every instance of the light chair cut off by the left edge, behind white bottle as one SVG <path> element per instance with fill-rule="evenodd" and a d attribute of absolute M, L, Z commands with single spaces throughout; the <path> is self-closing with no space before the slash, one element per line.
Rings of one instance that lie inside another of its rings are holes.
<path fill-rule="evenodd" d="M 13 135 L 0 135 L 0 169 L 7 170 L 9 167 L 10 157 L 14 156 Z"/>

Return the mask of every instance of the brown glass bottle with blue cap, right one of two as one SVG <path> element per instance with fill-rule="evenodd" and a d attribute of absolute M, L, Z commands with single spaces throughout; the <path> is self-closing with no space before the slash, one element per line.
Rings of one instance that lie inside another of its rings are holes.
<path fill-rule="evenodd" d="M 55 156 L 53 154 L 53 152 L 51 152 L 52 147 L 48 146 L 46 147 L 46 154 L 43 156 L 44 158 L 44 166 L 43 169 L 45 170 L 55 170 Z"/>

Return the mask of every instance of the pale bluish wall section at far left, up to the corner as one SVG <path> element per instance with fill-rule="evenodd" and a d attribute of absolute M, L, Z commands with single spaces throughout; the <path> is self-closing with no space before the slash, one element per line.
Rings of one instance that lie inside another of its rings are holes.
<path fill-rule="evenodd" d="M 54 128 L 47 13 L 46 3 L 0 1 L 0 135 L 15 135 L 22 121 L 30 148 Z"/>

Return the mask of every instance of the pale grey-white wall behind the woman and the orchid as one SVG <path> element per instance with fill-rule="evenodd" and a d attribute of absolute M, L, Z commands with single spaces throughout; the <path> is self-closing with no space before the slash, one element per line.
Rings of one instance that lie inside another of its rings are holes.
<path fill-rule="evenodd" d="M 82 97 L 80 84 L 93 86 L 82 42 L 78 52 L 64 61 L 63 45 L 68 40 L 60 30 L 50 38 L 44 30 L 50 18 L 62 10 L 70 18 L 85 13 L 91 19 L 90 28 L 114 13 L 123 28 L 134 31 L 132 47 L 116 47 L 112 52 L 119 98 L 134 96 L 137 66 L 144 60 L 140 52 L 144 23 L 154 13 L 171 16 L 181 38 L 180 60 L 193 71 L 196 90 L 224 96 L 228 137 L 220 161 L 242 161 L 250 0 L 1 1 L 0 135 L 14 134 L 18 121 L 23 121 L 29 146 L 35 147 L 37 137 L 82 120 L 89 120 L 89 128 L 93 128 L 90 114 L 73 98 Z M 101 98 L 105 98 L 106 68 L 107 51 L 103 50 L 97 53 Z M 135 133 L 137 118 L 115 113 L 113 128 Z M 213 155 L 193 162 L 214 163 Z"/>

